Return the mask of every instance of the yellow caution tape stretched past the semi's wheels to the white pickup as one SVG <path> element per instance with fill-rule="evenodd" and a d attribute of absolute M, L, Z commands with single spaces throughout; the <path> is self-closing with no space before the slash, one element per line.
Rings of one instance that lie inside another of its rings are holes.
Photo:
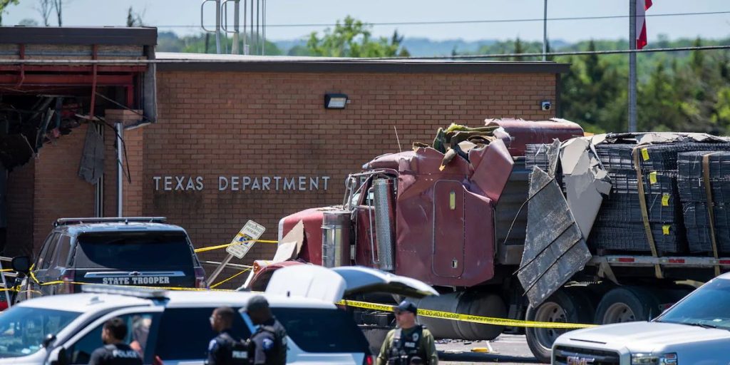
<path fill-rule="evenodd" d="M 392 312 L 393 306 L 377 303 L 369 303 L 366 301 L 352 301 L 342 300 L 338 301 L 337 304 L 347 305 L 349 307 L 364 308 L 368 310 L 383 310 Z M 594 327 L 594 324 L 587 323 L 564 323 L 564 322 L 537 322 L 534 320 L 513 320 L 507 318 L 493 318 L 483 317 L 480 315 L 464 315 L 461 313 L 442 312 L 440 310 L 426 310 L 418 309 L 418 315 L 421 317 L 429 318 L 442 318 L 447 320 L 460 320 L 463 322 L 481 323 L 488 324 L 491 326 L 505 326 L 505 327 L 529 327 L 529 328 L 563 328 L 563 329 L 574 329 L 574 328 L 589 328 Z"/>

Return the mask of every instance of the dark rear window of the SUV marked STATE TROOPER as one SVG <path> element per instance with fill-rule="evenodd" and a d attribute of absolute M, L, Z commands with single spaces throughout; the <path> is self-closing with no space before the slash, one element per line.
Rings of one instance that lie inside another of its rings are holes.
<path fill-rule="evenodd" d="M 180 232 L 114 232 L 77 238 L 74 266 L 83 269 L 193 267 L 193 251 Z"/>

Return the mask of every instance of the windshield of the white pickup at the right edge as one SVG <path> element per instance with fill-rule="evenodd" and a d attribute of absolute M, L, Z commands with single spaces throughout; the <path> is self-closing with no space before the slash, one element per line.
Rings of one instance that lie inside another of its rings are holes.
<path fill-rule="evenodd" d="M 730 280 L 712 280 L 656 321 L 730 330 Z"/>

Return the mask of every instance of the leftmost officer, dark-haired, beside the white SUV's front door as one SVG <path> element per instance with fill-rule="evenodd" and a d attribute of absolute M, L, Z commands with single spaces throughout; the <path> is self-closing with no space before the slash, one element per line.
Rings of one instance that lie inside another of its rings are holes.
<path fill-rule="evenodd" d="M 122 318 L 112 318 L 101 328 L 99 347 L 91 353 L 89 365 L 142 365 L 142 358 L 133 348 L 124 343 L 127 336 L 127 325 Z"/>

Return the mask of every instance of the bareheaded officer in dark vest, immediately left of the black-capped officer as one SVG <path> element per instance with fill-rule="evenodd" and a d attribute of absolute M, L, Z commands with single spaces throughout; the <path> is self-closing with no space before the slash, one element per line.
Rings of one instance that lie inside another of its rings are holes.
<path fill-rule="evenodd" d="M 210 316 L 210 327 L 218 336 L 208 344 L 207 365 L 248 365 L 248 345 L 231 336 L 231 327 L 237 313 L 230 307 L 218 307 Z"/>

